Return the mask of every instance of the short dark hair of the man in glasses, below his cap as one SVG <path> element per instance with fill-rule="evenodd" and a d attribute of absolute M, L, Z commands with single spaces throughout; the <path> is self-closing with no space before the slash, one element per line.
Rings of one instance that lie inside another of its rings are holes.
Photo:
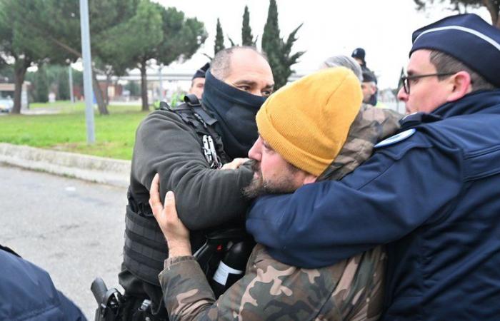
<path fill-rule="evenodd" d="M 431 63 L 436 67 L 438 73 L 456 73 L 459 71 L 469 73 L 471 76 L 472 91 L 491 91 L 496 89 L 492 83 L 486 81 L 479 73 L 476 73 L 476 71 L 473 71 L 461 61 L 442 51 L 431 51 Z M 439 80 L 443 80 L 444 78 L 446 76 L 438 77 Z"/>

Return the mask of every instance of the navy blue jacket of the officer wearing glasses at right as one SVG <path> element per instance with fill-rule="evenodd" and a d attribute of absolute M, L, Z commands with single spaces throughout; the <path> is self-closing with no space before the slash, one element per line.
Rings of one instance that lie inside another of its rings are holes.
<path fill-rule="evenodd" d="M 302 267 L 386 244 L 386 320 L 499 320 L 500 91 L 423 119 L 341 181 L 260 198 L 246 226 Z"/>

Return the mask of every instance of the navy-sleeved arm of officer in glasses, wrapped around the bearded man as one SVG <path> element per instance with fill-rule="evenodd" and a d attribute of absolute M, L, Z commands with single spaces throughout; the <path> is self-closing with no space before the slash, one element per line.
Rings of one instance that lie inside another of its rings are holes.
<path fill-rule="evenodd" d="M 277 260 L 322 267 L 398 240 L 454 206 L 461 188 L 456 160 L 436 165 L 439 152 L 421 148 L 406 153 L 406 161 L 394 157 L 379 153 L 341 182 L 265 196 L 251 209 L 246 228 Z M 414 179 L 428 171 L 434 175 Z"/>

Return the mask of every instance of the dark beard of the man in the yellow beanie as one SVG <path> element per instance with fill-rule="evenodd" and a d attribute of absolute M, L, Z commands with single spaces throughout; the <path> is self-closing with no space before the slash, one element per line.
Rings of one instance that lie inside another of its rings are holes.
<path fill-rule="evenodd" d="M 246 198 L 256 198 L 266 194 L 286 194 L 294 192 L 298 187 L 294 183 L 294 173 L 299 168 L 289 165 L 286 168 L 286 173 L 280 178 L 269 181 L 262 178 L 261 163 L 251 160 L 251 168 L 256 173 L 256 177 L 251 180 L 250 184 L 243 189 L 243 195 Z"/>

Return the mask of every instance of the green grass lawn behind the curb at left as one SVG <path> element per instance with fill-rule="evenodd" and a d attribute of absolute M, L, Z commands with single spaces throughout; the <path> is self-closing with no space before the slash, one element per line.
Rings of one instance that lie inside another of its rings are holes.
<path fill-rule="evenodd" d="M 32 111 L 56 114 L 0 117 L 0 142 L 129 160 L 136 128 L 148 113 L 140 106 L 109 106 L 109 116 L 94 110 L 96 143 L 86 143 L 85 103 L 31 103 Z"/>

